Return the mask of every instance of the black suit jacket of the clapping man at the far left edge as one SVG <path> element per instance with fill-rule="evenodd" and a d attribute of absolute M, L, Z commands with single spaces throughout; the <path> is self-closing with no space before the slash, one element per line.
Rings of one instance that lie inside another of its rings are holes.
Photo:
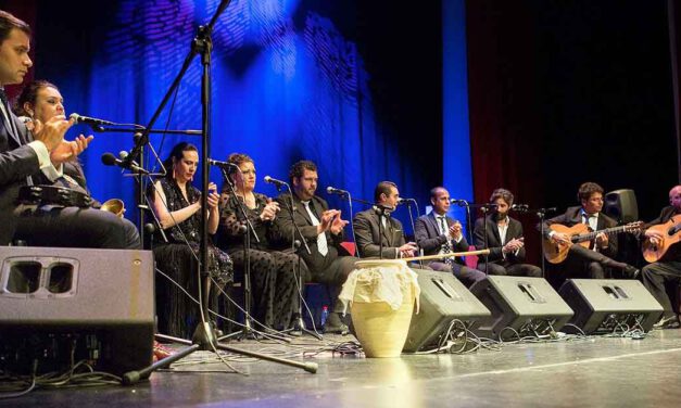
<path fill-rule="evenodd" d="M 38 155 L 27 143 L 26 126 L 9 113 L 14 120 L 18 135 L 10 128 L 0 112 L 0 245 L 8 245 L 16 228 L 16 208 L 18 189 L 26 184 L 26 177 L 40 171 Z"/>

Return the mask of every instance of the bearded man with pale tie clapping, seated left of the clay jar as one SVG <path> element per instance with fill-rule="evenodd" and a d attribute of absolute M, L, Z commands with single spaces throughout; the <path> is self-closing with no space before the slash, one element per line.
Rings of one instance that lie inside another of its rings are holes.
<path fill-rule="evenodd" d="M 318 195 L 317 190 L 317 166 L 310 161 L 301 161 L 291 166 L 289 171 L 293 195 L 289 193 L 280 194 L 277 197 L 281 214 L 275 219 L 275 228 L 280 232 L 287 245 L 291 245 L 291 240 L 300 240 L 295 231 L 299 227 L 303 238 L 310 246 L 311 254 L 304 248 L 299 253 L 311 273 L 311 281 L 326 283 L 333 286 L 331 295 L 333 310 L 326 321 L 325 332 L 346 333 L 348 326 L 341 320 L 340 314 L 343 311 L 342 304 L 338 301 L 340 286 L 345 282 L 350 272 L 354 269 L 353 256 L 341 256 L 339 250 L 343 242 L 343 227 L 348 221 L 341 218 L 339 209 L 329 209 L 327 202 Z M 287 208 L 291 208 L 293 202 L 293 220 Z"/>

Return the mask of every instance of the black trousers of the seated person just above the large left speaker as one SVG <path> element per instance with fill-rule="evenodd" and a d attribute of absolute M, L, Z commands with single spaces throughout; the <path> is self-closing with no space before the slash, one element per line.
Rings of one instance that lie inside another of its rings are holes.
<path fill-rule="evenodd" d="M 140 248 L 137 227 L 96 208 L 20 205 L 14 240 L 30 246 Z"/>

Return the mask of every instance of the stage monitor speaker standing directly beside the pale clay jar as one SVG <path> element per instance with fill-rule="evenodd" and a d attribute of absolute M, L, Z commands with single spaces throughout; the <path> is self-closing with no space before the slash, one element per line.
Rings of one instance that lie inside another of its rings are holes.
<path fill-rule="evenodd" d="M 479 319 L 491 316 L 453 275 L 434 270 L 413 269 L 421 289 L 419 313 L 414 313 L 404 344 L 405 353 L 415 353 L 436 346 L 453 320 L 461 320 L 468 329 Z"/>

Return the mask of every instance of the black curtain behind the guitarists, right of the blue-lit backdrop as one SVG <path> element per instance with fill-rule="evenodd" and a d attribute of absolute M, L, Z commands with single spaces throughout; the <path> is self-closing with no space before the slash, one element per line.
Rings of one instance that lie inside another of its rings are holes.
<path fill-rule="evenodd" d="M 667 2 L 467 2 L 477 201 L 578 205 L 583 181 L 655 217 L 677 182 Z M 521 215 L 539 262 L 537 218 Z"/>

